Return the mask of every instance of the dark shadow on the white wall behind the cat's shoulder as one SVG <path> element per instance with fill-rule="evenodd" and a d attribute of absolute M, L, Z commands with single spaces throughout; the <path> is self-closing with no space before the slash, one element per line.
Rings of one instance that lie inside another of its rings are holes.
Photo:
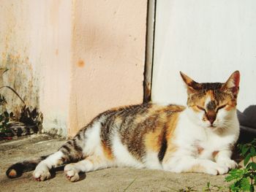
<path fill-rule="evenodd" d="M 256 105 L 250 105 L 244 112 L 237 111 L 240 123 L 239 142 L 249 142 L 256 138 Z"/>

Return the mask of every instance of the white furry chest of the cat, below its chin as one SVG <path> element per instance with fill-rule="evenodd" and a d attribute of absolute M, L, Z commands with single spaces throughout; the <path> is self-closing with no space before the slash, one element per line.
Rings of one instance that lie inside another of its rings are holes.
<path fill-rule="evenodd" d="M 184 154 L 196 158 L 214 159 L 220 151 L 227 149 L 236 139 L 234 134 L 217 134 L 211 128 L 201 128 L 183 114 L 176 130 L 176 144 Z"/>

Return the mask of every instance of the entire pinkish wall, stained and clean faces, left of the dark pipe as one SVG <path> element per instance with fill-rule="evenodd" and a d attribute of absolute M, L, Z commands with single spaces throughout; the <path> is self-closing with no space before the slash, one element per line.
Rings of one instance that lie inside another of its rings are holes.
<path fill-rule="evenodd" d="M 110 107 L 142 102 L 146 8 L 146 0 L 0 0 L 0 65 L 10 69 L 0 83 L 39 107 L 44 131 L 64 136 Z"/>

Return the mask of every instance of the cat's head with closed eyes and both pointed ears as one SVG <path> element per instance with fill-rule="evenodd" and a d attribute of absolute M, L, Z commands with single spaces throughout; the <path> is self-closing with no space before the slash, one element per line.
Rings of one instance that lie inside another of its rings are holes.
<path fill-rule="evenodd" d="M 195 82 L 181 72 L 187 85 L 187 106 L 200 126 L 227 128 L 236 115 L 240 73 L 233 72 L 227 82 Z"/>

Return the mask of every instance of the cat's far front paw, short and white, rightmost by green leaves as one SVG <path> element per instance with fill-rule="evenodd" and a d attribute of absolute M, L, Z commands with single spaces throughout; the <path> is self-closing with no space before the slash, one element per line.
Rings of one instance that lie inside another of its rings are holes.
<path fill-rule="evenodd" d="M 227 166 L 229 169 L 235 169 L 238 166 L 236 161 L 231 159 L 231 150 L 220 150 L 216 153 L 217 154 L 214 156 L 214 160 L 217 164 Z"/>

